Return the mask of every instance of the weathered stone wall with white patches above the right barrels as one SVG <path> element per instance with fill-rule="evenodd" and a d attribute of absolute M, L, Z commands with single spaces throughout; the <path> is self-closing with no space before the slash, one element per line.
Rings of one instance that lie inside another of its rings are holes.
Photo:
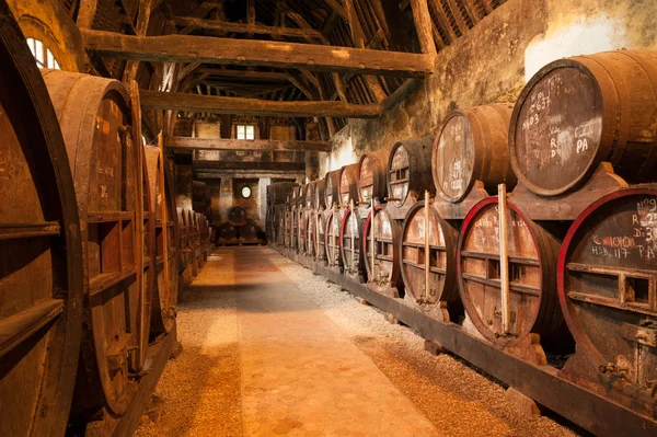
<path fill-rule="evenodd" d="M 350 119 L 333 137 L 326 171 L 372 150 L 434 134 L 445 115 L 514 102 L 541 67 L 567 56 L 657 48 L 657 2 L 649 0 L 508 0 L 438 54 L 437 70 L 416 81 L 377 119 Z"/>

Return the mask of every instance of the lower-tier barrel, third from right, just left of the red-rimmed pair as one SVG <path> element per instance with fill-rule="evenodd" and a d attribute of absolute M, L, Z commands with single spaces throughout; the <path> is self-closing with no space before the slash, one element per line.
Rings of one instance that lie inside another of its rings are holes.
<path fill-rule="evenodd" d="M 401 267 L 404 298 L 418 310 L 440 320 L 456 320 L 456 315 L 462 309 L 456 272 L 459 231 L 443 220 L 434 207 L 429 207 L 427 227 L 426 214 L 425 203 L 418 202 L 408 209 L 402 225 Z M 425 240 L 427 233 L 428 241 Z M 427 249 L 429 252 L 428 289 L 426 286 Z M 449 310 L 449 314 L 443 311 L 445 307 Z"/>

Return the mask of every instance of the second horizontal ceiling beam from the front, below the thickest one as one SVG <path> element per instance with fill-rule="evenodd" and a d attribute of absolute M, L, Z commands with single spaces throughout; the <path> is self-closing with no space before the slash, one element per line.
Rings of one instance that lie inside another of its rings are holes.
<path fill-rule="evenodd" d="M 141 91 L 141 107 L 150 110 L 175 110 L 215 114 L 245 114 L 286 117 L 346 117 L 376 118 L 380 115 L 379 104 L 354 105 L 344 102 L 273 102 L 257 99 L 223 97 Z"/>

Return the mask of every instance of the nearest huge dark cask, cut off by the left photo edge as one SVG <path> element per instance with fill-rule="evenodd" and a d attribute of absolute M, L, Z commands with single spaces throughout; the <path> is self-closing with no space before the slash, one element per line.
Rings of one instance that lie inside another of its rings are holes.
<path fill-rule="evenodd" d="M 73 181 L 34 57 L 0 1 L 0 435 L 65 435 L 82 333 Z"/>

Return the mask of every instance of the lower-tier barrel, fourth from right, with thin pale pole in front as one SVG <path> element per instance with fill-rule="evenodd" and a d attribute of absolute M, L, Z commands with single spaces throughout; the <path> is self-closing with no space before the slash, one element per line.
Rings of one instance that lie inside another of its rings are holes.
<path fill-rule="evenodd" d="M 362 230 L 368 287 L 388 297 L 401 298 L 404 292 L 400 273 L 401 226 L 396 220 L 390 218 L 381 205 L 374 207 L 373 256 L 371 226 L 372 212 L 370 210 Z"/>

